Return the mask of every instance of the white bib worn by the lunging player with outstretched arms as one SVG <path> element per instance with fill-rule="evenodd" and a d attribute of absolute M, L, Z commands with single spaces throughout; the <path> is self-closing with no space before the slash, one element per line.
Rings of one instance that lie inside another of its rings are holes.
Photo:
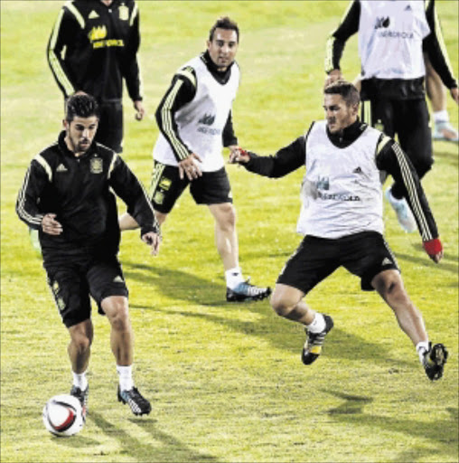
<path fill-rule="evenodd" d="M 361 231 L 383 233 L 381 172 L 376 147 L 381 132 L 366 128 L 350 146 L 334 146 L 326 121 L 314 122 L 306 138 L 301 234 L 336 239 Z"/>

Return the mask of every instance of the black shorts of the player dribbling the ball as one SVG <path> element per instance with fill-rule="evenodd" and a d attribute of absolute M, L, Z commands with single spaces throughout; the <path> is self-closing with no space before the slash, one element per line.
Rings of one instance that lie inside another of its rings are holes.
<path fill-rule="evenodd" d="M 87 320 L 91 314 L 89 295 L 98 303 L 98 313 L 104 315 L 100 303 L 110 296 L 124 296 L 128 291 L 117 258 L 95 260 L 80 258 L 59 265 L 44 265 L 48 284 L 65 326 Z"/>

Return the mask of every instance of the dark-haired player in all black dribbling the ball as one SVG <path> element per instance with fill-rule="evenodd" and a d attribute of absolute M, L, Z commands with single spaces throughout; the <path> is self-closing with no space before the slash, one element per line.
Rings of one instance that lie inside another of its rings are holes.
<path fill-rule="evenodd" d="M 133 333 L 127 288 L 117 260 L 120 232 L 115 192 L 141 225 L 141 238 L 157 254 L 160 229 L 153 207 L 123 159 L 94 141 L 98 104 L 78 92 L 67 99 L 64 131 L 56 143 L 33 158 L 18 194 L 16 212 L 39 231 L 43 267 L 70 334 L 73 372 L 70 394 L 86 413 L 93 338 L 91 303 L 111 325 L 110 345 L 117 361 L 118 401 L 136 415 L 151 411 L 133 383 Z"/>

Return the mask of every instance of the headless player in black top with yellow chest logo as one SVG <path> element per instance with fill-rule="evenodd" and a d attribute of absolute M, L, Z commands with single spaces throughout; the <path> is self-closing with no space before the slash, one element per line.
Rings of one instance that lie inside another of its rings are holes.
<path fill-rule="evenodd" d="M 72 0 L 62 6 L 47 58 L 64 99 L 78 90 L 98 101 L 96 141 L 123 150 L 123 80 L 142 120 L 145 109 L 137 61 L 139 13 L 134 0 Z"/>

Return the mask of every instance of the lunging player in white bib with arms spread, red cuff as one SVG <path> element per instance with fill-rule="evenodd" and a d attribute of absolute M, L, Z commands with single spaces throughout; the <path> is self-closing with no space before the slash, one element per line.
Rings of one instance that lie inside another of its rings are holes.
<path fill-rule="evenodd" d="M 304 136 L 275 156 L 239 150 L 231 154 L 230 162 L 272 178 L 306 168 L 298 221 L 298 231 L 306 236 L 281 271 L 271 298 L 278 315 L 305 326 L 304 364 L 312 364 L 321 354 L 333 319 L 315 312 L 303 298 L 344 267 L 361 278 L 362 289 L 376 289 L 392 308 L 434 381 L 442 376 L 448 353 L 444 345 L 429 342 L 422 315 L 408 298 L 397 261 L 383 238 L 385 173 L 403 185 L 424 248 L 436 263 L 443 257 L 442 243 L 416 170 L 393 139 L 361 123 L 359 106 L 358 90 L 337 80 L 324 90 L 326 120 L 314 122 Z"/>

